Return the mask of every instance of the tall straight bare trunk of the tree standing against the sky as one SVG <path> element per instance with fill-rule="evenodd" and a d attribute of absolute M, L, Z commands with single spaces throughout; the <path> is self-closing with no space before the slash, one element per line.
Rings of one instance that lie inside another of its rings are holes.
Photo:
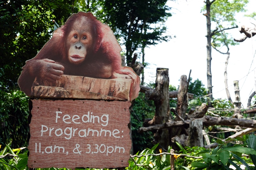
<path fill-rule="evenodd" d="M 210 0 L 206 0 L 206 26 L 207 26 L 207 88 L 208 88 L 208 106 L 212 107 L 212 71 L 211 71 L 211 62 L 212 62 L 212 45 L 211 45 L 211 3 Z"/>

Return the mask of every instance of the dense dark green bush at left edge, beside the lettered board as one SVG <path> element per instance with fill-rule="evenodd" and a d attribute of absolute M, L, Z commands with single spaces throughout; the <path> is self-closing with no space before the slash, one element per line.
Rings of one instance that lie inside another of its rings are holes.
<path fill-rule="evenodd" d="M 0 144 L 12 141 L 12 147 L 27 145 L 28 97 L 18 90 L 0 91 Z"/>

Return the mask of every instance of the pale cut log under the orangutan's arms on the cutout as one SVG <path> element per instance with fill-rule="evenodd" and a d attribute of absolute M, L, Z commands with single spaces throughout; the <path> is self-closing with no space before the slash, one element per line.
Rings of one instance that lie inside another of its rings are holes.
<path fill-rule="evenodd" d="M 101 79 L 83 76 L 62 75 L 60 80 L 50 83 L 35 79 L 32 98 L 119 100 L 129 99 L 132 79 Z"/>

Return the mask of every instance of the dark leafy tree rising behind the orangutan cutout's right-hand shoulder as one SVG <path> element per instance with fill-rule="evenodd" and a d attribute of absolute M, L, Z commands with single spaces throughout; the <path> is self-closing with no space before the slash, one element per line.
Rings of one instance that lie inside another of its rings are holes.
<path fill-rule="evenodd" d="M 126 47 L 127 63 L 136 49 L 167 41 L 164 22 L 171 16 L 167 0 L 113 0 L 105 1 L 104 22 L 108 23 L 117 39 Z M 143 44 L 144 43 L 144 44 Z"/>

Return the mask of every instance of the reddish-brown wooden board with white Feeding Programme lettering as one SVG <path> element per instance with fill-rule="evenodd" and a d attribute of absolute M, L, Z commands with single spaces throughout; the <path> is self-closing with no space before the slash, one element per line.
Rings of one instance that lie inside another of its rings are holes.
<path fill-rule="evenodd" d="M 29 168 L 127 167 L 129 101 L 32 100 Z"/>

